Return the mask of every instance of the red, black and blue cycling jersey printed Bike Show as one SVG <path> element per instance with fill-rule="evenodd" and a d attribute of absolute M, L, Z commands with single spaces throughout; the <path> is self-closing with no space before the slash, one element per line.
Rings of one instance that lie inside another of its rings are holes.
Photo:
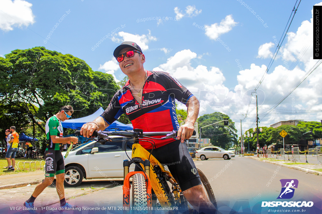
<path fill-rule="evenodd" d="M 132 96 L 129 81 L 118 90 L 109 107 L 101 117 L 111 124 L 122 114 L 126 114 L 133 128 L 143 132 L 168 132 L 178 130 L 179 124 L 175 114 L 175 99 L 186 104 L 194 96 L 171 74 L 147 71 L 147 80 L 142 90 L 142 104 Z M 156 148 L 166 145 L 174 139 L 154 140 Z M 145 149 L 152 149 L 148 142 L 140 142 Z"/>

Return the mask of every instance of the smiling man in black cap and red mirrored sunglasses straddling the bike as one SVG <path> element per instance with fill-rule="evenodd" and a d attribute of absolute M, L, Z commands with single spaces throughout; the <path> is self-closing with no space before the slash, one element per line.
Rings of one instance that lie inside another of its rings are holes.
<path fill-rule="evenodd" d="M 145 70 L 145 56 L 135 42 L 123 42 L 114 50 L 113 56 L 129 81 L 118 90 L 101 116 L 82 126 L 81 134 L 90 137 L 94 131 L 105 130 L 124 113 L 134 128 L 144 132 L 178 130 L 177 140 L 155 140 L 154 146 L 148 142 L 140 144 L 148 151 L 154 148 L 151 154 L 168 165 L 185 198 L 199 213 L 213 213 L 215 208 L 201 188 L 198 173 L 193 173 L 196 167 L 184 143 L 194 131 L 199 113 L 198 99 L 171 74 Z M 175 114 L 175 99 L 187 106 L 188 115 L 182 126 Z"/>

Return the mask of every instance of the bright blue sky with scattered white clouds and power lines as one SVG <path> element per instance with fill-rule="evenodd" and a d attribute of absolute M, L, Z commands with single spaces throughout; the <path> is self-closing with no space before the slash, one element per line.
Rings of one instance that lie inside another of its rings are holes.
<path fill-rule="evenodd" d="M 290 95 L 271 110 L 317 62 L 313 60 L 311 19 L 313 5 L 318 3 L 301 1 L 260 85 L 261 126 L 322 119 L 320 67 L 294 90 L 293 98 Z M 1 0 L 0 56 L 14 49 L 44 46 L 72 54 L 94 71 L 121 80 L 124 74 L 112 53 L 122 41 L 132 40 L 142 48 L 147 70 L 173 74 L 199 98 L 199 116 L 225 113 L 236 122 L 240 134 L 241 119 L 243 130 L 255 125 L 256 108 L 249 105 L 250 95 L 265 73 L 277 46 L 274 39 L 279 41 L 295 4 L 296 0 Z"/>

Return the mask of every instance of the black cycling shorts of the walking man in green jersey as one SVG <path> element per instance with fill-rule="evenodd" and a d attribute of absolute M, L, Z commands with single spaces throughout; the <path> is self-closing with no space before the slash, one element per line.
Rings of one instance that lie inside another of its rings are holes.
<path fill-rule="evenodd" d="M 53 177 L 65 173 L 64 158 L 62 152 L 59 150 L 46 150 L 45 151 L 45 176 Z"/>

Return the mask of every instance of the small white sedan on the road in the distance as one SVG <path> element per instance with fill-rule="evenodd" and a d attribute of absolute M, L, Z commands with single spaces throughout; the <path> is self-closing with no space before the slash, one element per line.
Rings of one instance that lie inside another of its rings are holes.
<path fill-rule="evenodd" d="M 207 160 L 208 158 L 223 158 L 229 160 L 235 157 L 235 153 L 232 151 L 224 150 L 218 146 L 206 146 L 196 151 L 196 158 L 201 160 Z"/>

